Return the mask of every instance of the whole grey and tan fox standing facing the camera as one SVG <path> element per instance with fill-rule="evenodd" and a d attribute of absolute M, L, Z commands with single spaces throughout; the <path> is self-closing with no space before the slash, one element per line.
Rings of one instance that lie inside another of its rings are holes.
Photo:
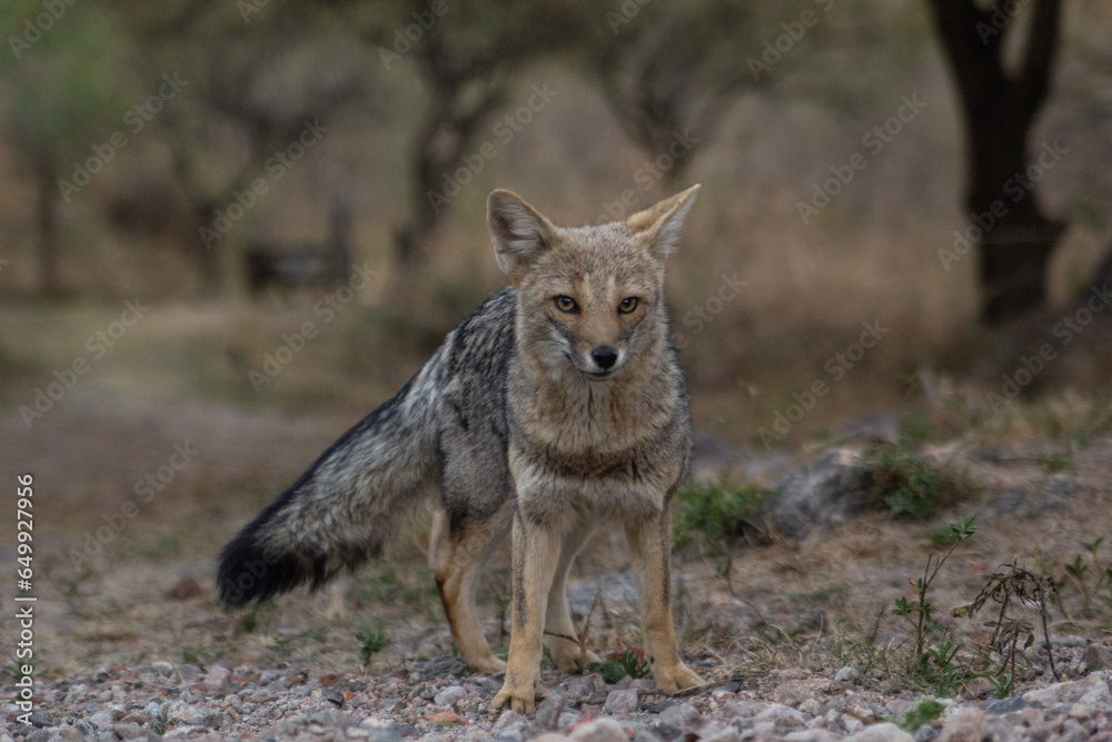
<path fill-rule="evenodd" d="M 493 191 L 487 228 L 510 285 L 228 543 L 224 604 L 316 588 L 380 555 L 438 499 L 447 544 L 435 580 L 453 637 L 471 670 L 505 672 L 494 708 L 532 714 L 545 646 L 563 672 L 598 662 L 566 586 L 580 548 L 609 524 L 629 547 L 656 685 L 701 685 L 679 656 L 669 594 L 671 502 L 692 432 L 664 296 L 665 263 L 698 190 L 585 227 L 557 227 L 516 194 Z M 483 635 L 475 592 L 507 537 L 504 662 Z"/>

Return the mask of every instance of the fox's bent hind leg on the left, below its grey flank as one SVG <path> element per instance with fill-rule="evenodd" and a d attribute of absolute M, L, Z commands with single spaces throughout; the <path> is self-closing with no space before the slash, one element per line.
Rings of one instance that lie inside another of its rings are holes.
<path fill-rule="evenodd" d="M 485 520 L 467 520 L 448 534 L 448 548 L 436 568 L 436 588 L 456 646 L 477 672 L 502 672 L 506 663 L 494 656 L 483 636 L 475 611 L 479 571 L 510 526 L 510 511 L 503 507 Z"/>

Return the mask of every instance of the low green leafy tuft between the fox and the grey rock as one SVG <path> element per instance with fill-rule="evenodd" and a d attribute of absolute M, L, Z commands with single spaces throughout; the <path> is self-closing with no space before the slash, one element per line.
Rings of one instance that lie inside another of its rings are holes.
<path fill-rule="evenodd" d="M 686 546 L 696 533 L 712 543 L 739 536 L 767 496 L 767 492 L 752 484 L 741 488 L 725 483 L 706 484 L 677 492 L 673 544 Z"/>

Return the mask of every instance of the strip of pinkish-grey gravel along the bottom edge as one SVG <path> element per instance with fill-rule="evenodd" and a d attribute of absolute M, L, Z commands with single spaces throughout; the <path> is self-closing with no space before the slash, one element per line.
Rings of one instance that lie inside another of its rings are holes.
<path fill-rule="evenodd" d="M 1071 680 L 1053 682 L 1035 660 L 1019 694 L 939 699 L 944 711 L 911 733 L 902 722 L 924 698 L 885 687 L 877 672 L 854 667 L 773 671 L 673 698 L 648 679 L 607 684 L 598 674 L 545 671 L 536 718 L 496 712 L 500 677 L 468 675 L 456 657 L 408 671 L 302 673 L 254 666 L 156 662 L 38 685 L 30 725 L 10 701 L 0 742 L 26 740 L 260 739 L 419 740 L 1112 740 L 1112 671 L 1089 671 L 1110 656 L 1103 645 L 1064 637 L 1055 650 Z M 1037 652 L 1037 646 L 1036 646 Z M 14 696 L 16 686 L 4 689 Z"/>

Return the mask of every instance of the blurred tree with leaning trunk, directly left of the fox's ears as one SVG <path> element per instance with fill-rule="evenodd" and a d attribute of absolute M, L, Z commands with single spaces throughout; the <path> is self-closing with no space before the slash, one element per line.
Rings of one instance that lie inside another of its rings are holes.
<path fill-rule="evenodd" d="M 403 269 L 423 256 L 450 195 L 444 178 L 467 167 L 475 135 L 509 95 L 513 73 L 565 49 L 584 0 L 448 3 L 401 0 L 369 9 L 364 38 L 389 70 L 413 60 L 431 97 L 413 144 L 408 221 L 395 235 Z M 474 169 L 474 168 L 473 168 Z"/>

